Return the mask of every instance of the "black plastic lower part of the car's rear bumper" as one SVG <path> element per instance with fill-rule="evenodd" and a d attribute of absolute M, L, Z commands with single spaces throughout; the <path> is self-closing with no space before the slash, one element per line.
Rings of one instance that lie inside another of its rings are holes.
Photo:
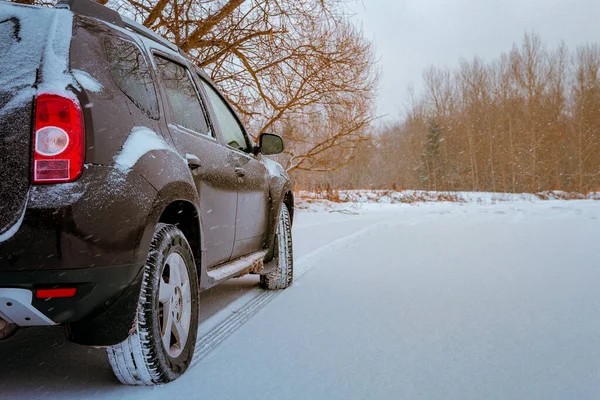
<path fill-rule="evenodd" d="M 132 332 L 142 286 L 142 265 L 86 268 L 55 271 L 0 271 L 0 300 L 2 289 L 11 293 L 17 289 L 29 292 L 29 312 L 39 314 L 36 323 L 18 325 L 66 326 L 67 338 L 87 346 L 112 346 L 126 340 Z M 77 287 L 72 298 L 36 299 L 37 289 Z M 7 290 L 8 289 L 8 290 Z M 13 292 L 14 293 L 14 292 Z M 27 308 L 27 299 L 21 301 Z M 2 310 L 0 310 L 1 312 Z M 5 315 L 7 320 L 16 316 Z M 23 320 L 25 315 L 21 315 Z"/>

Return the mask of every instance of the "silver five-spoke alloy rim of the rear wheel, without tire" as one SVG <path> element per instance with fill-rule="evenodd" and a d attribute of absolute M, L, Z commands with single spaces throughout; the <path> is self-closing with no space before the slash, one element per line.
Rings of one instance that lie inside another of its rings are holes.
<path fill-rule="evenodd" d="M 192 321 L 190 278 L 183 257 L 171 253 L 162 269 L 159 291 L 159 321 L 163 348 L 172 358 L 183 352 Z"/>

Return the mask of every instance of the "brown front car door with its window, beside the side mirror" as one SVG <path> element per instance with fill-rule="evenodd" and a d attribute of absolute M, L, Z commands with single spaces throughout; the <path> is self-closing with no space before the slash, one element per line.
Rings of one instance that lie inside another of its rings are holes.
<path fill-rule="evenodd" d="M 210 83 L 200 79 L 238 177 L 235 244 L 231 256 L 237 258 L 264 248 L 270 202 L 267 170 L 254 156 L 254 144 L 227 102 Z"/>

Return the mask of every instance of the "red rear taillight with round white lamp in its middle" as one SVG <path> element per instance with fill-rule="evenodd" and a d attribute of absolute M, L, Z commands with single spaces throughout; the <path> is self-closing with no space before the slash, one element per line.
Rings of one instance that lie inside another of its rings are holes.
<path fill-rule="evenodd" d="M 41 94 L 35 105 L 33 182 L 71 182 L 85 158 L 83 115 L 79 104 L 56 94 Z"/>

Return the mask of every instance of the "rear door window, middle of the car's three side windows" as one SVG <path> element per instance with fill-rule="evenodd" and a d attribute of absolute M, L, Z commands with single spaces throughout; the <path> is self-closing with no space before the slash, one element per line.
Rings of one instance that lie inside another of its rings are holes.
<path fill-rule="evenodd" d="M 204 110 L 188 69 L 156 55 L 154 59 L 173 109 L 173 122 L 194 132 L 210 135 Z"/>

